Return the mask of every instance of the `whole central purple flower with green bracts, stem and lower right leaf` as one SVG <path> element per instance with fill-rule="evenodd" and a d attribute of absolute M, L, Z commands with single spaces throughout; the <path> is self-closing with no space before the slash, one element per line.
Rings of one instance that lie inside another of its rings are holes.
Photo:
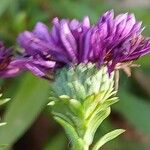
<path fill-rule="evenodd" d="M 49 105 L 67 132 L 72 150 L 89 149 L 110 106 L 117 102 L 114 70 L 129 67 L 124 64 L 150 52 L 142 30 L 133 14 L 114 17 L 114 12 L 108 11 L 93 26 L 88 17 L 81 22 L 54 18 L 51 30 L 39 22 L 32 32 L 19 35 L 23 56 L 11 64 L 45 78 L 56 70 Z M 123 132 L 107 133 L 92 150 Z"/>

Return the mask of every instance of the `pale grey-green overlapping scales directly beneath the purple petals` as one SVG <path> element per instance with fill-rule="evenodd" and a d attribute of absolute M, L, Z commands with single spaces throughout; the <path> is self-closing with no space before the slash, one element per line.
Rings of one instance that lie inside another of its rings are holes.
<path fill-rule="evenodd" d="M 89 63 L 59 70 L 52 89 L 55 96 L 67 95 L 83 101 L 94 93 L 111 93 L 113 84 L 113 73 L 109 76 L 107 67 L 97 69 L 94 64 Z"/>

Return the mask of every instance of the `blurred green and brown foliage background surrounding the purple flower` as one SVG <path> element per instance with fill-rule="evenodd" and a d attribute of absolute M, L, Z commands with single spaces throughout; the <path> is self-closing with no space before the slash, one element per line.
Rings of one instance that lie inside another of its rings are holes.
<path fill-rule="evenodd" d="M 0 0 L 0 39 L 17 51 L 16 37 L 23 30 L 32 30 L 37 21 L 51 26 L 53 17 L 89 16 L 92 23 L 106 10 L 116 14 L 133 12 L 150 36 L 149 0 Z M 121 72 L 120 101 L 96 138 L 115 128 L 126 133 L 106 144 L 103 150 L 150 150 L 150 55 L 137 61 L 140 68 L 128 78 Z M 23 73 L 13 79 L 1 79 L 1 92 L 11 101 L 1 106 L 1 117 L 8 124 L 0 128 L 0 145 L 7 150 L 67 150 L 70 142 L 50 114 L 47 81 Z M 2 148 L 0 148 L 2 149 Z"/>

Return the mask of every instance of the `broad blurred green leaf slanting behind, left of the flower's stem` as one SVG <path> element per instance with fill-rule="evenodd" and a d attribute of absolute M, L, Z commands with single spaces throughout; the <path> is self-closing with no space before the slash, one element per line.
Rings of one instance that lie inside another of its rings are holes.
<path fill-rule="evenodd" d="M 0 128 L 0 145 L 10 147 L 29 128 L 48 102 L 49 90 L 48 82 L 33 75 L 24 76 L 4 115 L 7 125 Z"/>

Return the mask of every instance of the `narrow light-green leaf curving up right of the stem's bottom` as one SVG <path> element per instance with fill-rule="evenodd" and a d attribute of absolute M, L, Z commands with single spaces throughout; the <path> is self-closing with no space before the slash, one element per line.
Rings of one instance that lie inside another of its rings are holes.
<path fill-rule="evenodd" d="M 111 131 L 107 134 L 105 134 L 102 138 L 100 138 L 100 140 L 93 146 L 92 150 L 98 150 L 99 148 L 101 148 L 105 143 L 109 142 L 110 140 L 116 138 L 117 136 L 119 136 L 120 134 L 122 134 L 123 132 L 125 132 L 125 130 L 123 129 L 116 129 L 114 131 Z"/>

